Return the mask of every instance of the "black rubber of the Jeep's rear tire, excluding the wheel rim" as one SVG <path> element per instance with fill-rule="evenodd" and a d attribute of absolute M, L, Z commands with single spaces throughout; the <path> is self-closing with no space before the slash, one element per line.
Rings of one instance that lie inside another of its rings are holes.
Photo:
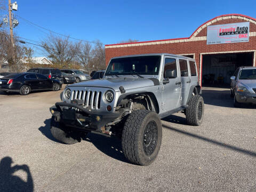
<path fill-rule="evenodd" d="M 188 102 L 188 108 L 186 109 L 186 119 L 189 125 L 198 126 L 198 125 L 201 125 L 202 123 L 204 114 L 202 114 L 201 121 L 197 121 L 197 103 L 199 102 L 199 100 L 201 100 L 201 98 L 202 98 L 201 95 L 194 95 L 190 98 Z M 203 102 L 203 108 L 204 108 L 203 98 L 202 98 L 202 102 Z"/>

